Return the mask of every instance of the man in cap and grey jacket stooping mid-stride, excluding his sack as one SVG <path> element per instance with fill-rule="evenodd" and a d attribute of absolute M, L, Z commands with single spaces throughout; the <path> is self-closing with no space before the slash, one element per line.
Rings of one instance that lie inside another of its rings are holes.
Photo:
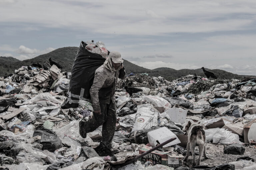
<path fill-rule="evenodd" d="M 117 79 L 124 77 L 123 59 L 117 51 L 110 52 L 104 64 L 95 71 L 90 89 L 93 117 L 87 122 L 83 119 L 79 122 L 79 132 L 83 138 L 86 138 L 86 133 L 102 125 L 102 141 L 99 147 L 112 146 L 116 126 L 115 87 Z"/>

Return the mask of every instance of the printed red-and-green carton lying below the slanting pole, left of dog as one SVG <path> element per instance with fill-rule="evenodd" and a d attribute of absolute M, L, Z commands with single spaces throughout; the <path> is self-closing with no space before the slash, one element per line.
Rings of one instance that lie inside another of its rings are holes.
<path fill-rule="evenodd" d="M 139 149 L 139 154 L 142 154 L 142 153 L 148 151 L 149 149 L 151 149 L 151 148 L 143 147 L 143 148 Z M 176 167 L 179 167 L 182 165 L 183 157 L 184 157 L 183 155 L 177 154 L 177 153 L 161 152 L 158 150 L 154 150 L 153 152 L 151 152 L 147 155 L 144 155 L 139 160 L 144 163 L 147 161 L 150 161 L 154 165 L 162 164 L 162 165 L 176 168 Z"/>

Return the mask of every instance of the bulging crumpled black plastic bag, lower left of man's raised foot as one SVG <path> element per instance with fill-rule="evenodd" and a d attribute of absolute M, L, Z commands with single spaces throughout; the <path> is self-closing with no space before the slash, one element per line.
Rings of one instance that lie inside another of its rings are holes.
<path fill-rule="evenodd" d="M 55 132 L 50 129 L 42 129 L 42 130 L 35 130 L 33 133 L 34 136 L 41 136 L 42 138 L 38 140 L 38 143 L 43 145 L 42 150 L 49 150 L 50 152 L 55 151 L 62 147 L 62 143 L 60 138 L 57 136 Z"/>

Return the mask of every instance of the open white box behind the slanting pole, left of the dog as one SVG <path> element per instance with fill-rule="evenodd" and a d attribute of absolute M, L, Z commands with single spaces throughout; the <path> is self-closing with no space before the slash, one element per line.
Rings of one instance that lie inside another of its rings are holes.
<path fill-rule="evenodd" d="M 163 143 L 163 142 L 165 142 L 165 141 L 167 141 L 167 140 L 169 140 L 173 137 L 177 137 L 171 130 L 169 130 L 166 127 L 162 127 L 162 128 L 152 130 L 152 131 L 148 132 L 147 134 L 148 134 L 149 144 L 152 147 L 155 147 L 157 144 L 161 144 L 161 143 Z M 180 140 L 177 137 L 177 139 L 173 140 L 170 143 L 167 143 L 163 147 L 175 145 L 175 144 L 178 144 L 178 143 L 180 143 Z"/>

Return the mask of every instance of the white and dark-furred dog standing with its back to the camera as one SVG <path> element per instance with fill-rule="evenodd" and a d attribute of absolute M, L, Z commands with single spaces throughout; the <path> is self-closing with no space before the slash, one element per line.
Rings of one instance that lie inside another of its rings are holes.
<path fill-rule="evenodd" d="M 188 135 L 188 144 L 187 144 L 187 153 L 183 161 L 187 161 L 189 156 L 189 151 L 192 153 L 193 157 L 193 165 L 200 165 L 202 155 L 204 154 L 205 159 L 209 159 L 206 155 L 205 150 L 205 131 L 203 129 L 203 126 L 188 121 L 187 125 L 183 128 L 183 131 L 185 132 L 185 135 Z M 199 158 L 196 164 L 196 158 L 195 158 L 195 147 L 199 147 Z"/>

